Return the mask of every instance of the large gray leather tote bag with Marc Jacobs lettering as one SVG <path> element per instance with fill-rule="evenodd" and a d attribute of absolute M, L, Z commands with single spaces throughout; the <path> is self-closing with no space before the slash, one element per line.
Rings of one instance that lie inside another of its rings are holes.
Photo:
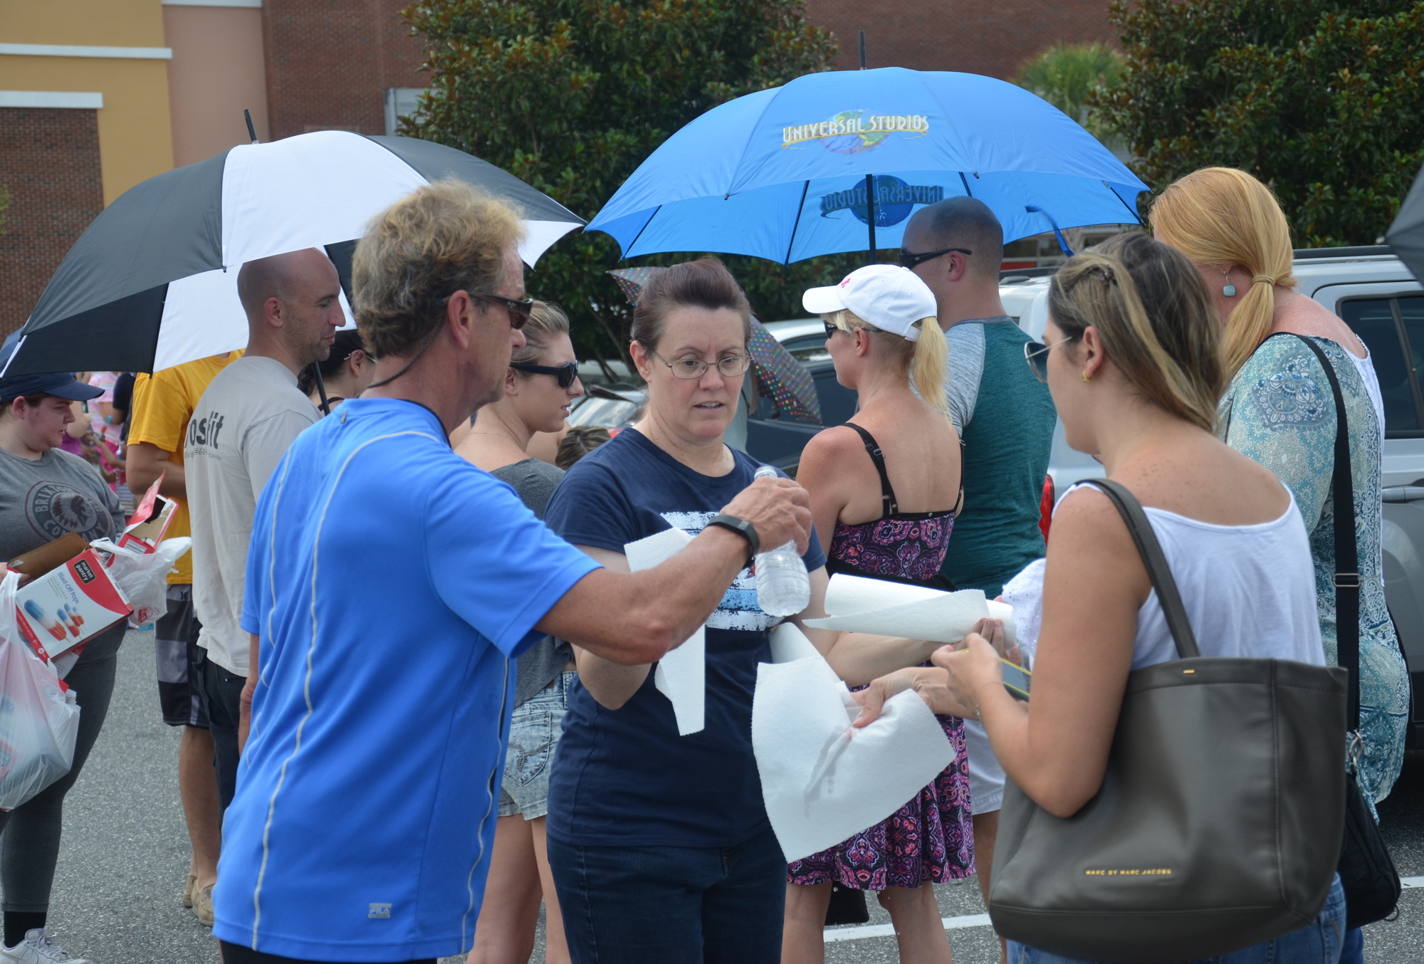
<path fill-rule="evenodd" d="M 1089 961 L 1215 957 L 1320 914 L 1344 820 L 1346 671 L 1202 656 L 1162 548 L 1116 504 L 1176 639 L 1135 669 L 1102 789 L 1055 817 L 1005 786 L 990 917 L 1001 936 Z"/>

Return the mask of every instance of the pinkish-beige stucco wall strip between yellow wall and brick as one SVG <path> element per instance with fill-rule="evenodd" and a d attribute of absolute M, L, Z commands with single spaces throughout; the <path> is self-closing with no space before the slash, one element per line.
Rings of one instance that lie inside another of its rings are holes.
<path fill-rule="evenodd" d="M 252 111 L 258 140 L 268 140 L 262 10 L 256 7 L 164 7 L 168 103 L 174 165 L 204 161 L 248 142 L 242 108 Z"/>

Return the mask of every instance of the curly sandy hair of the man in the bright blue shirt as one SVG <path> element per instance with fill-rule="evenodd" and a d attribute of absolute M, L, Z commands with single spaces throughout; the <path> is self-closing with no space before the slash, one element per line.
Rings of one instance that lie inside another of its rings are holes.
<path fill-rule="evenodd" d="M 356 326 L 376 357 L 414 350 L 457 290 L 493 292 L 524 239 L 507 202 L 460 184 L 419 188 L 376 215 L 352 258 Z"/>

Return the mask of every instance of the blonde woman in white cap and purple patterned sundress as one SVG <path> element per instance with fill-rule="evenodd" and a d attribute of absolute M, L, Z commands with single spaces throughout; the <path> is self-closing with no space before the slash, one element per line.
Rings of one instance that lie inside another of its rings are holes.
<path fill-rule="evenodd" d="M 854 419 L 812 439 L 797 470 L 826 571 L 953 588 L 940 564 L 958 511 L 960 444 L 944 410 L 947 346 L 934 295 L 911 271 L 870 265 L 807 290 L 802 303 L 826 320 L 836 379 L 860 396 Z M 901 645 L 901 665 L 923 664 L 934 648 Z M 934 887 L 924 884 L 973 874 L 974 834 L 964 722 L 940 722 L 956 748 L 944 773 L 887 820 L 789 867 L 783 964 L 824 958 L 833 884 L 879 891 L 900 960 L 950 961 Z"/>

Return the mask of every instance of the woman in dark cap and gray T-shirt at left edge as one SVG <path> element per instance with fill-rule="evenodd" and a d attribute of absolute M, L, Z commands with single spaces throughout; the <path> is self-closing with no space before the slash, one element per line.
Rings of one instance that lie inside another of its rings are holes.
<path fill-rule="evenodd" d="M 0 561 L 13 560 L 68 533 L 93 541 L 122 531 L 118 496 L 98 470 L 60 450 L 74 421 L 73 402 L 98 397 L 101 389 L 73 374 L 20 374 L 0 379 Z M 50 886 L 60 859 L 64 795 L 74 786 L 108 712 L 114 692 L 121 621 L 90 639 L 64 681 L 80 705 L 74 763 L 63 777 L 20 806 L 0 812 L 0 867 L 4 890 L 4 947 L 16 960 L 74 960 L 46 927 Z M 21 947 L 27 944 L 28 947 Z"/>

